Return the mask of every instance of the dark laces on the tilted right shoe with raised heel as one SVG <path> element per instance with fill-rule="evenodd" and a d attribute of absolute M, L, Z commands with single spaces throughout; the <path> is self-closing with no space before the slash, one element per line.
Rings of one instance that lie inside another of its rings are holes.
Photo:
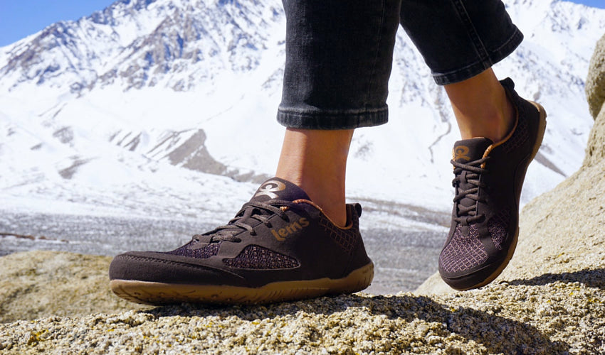
<path fill-rule="evenodd" d="M 485 202 L 485 197 L 479 194 L 479 190 L 486 187 L 481 181 L 481 175 L 488 173 L 488 170 L 482 166 L 489 158 L 468 163 L 458 163 L 456 160 L 450 162 L 454 166 L 454 175 L 456 175 L 452 185 L 458 187 L 456 197 L 453 199 L 456 204 L 456 217 L 453 217 L 453 220 L 463 226 L 485 218 L 485 214 L 478 213 L 477 202 Z"/>

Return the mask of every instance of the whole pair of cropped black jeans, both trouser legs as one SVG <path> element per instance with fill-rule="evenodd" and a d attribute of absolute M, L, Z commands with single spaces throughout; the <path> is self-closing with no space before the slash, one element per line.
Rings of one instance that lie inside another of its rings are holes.
<path fill-rule="evenodd" d="M 283 0 L 283 6 L 278 121 L 297 129 L 386 123 L 399 24 L 441 85 L 478 75 L 523 39 L 500 0 Z"/>

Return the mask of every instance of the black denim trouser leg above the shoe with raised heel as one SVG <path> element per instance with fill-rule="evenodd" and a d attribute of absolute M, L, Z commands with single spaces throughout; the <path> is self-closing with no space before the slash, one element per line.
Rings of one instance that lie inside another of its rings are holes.
<path fill-rule="evenodd" d="M 403 4 L 401 26 L 440 85 L 478 75 L 523 40 L 500 0 L 404 0 Z"/>

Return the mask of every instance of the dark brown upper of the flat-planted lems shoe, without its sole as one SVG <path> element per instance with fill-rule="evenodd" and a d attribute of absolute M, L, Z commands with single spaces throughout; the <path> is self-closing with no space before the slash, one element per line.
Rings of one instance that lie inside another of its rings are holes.
<path fill-rule="evenodd" d="M 270 179 L 227 224 L 196 234 L 173 251 L 131 251 L 112 261 L 112 280 L 259 287 L 287 280 L 342 278 L 371 261 L 359 234 L 330 222 L 298 186 Z"/>

